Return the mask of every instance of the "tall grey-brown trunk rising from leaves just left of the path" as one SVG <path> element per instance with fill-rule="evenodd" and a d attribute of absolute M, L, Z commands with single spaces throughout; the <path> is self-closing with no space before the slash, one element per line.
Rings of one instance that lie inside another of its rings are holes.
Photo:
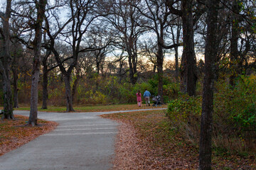
<path fill-rule="evenodd" d="M 37 125 L 38 120 L 38 81 L 41 65 L 41 42 L 42 42 L 42 23 L 46 11 L 47 0 L 40 0 L 36 3 L 37 18 L 35 23 L 35 39 L 33 40 L 33 68 L 31 81 L 31 111 L 29 114 L 28 125 Z"/>

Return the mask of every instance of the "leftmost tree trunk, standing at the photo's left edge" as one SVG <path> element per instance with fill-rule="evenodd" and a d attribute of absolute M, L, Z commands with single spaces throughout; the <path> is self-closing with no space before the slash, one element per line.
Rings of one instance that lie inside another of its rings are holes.
<path fill-rule="evenodd" d="M 4 115 L 1 119 L 14 119 L 13 101 L 11 94 L 11 81 L 10 81 L 10 32 L 9 32 L 9 18 L 11 17 L 11 1 L 6 1 L 6 13 L 1 13 L 1 20 L 3 23 L 3 36 L 4 36 L 4 57 L 0 61 L 0 67 L 3 77 L 3 93 L 4 93 Z"/>

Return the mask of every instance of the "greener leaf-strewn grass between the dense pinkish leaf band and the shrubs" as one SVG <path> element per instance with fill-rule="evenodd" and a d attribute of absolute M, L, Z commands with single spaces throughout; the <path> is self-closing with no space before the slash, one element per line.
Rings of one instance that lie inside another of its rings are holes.
<path fill-rule="evenodd" d="M 132 124 L 142 141 L 140 145 L 148 144 L 148 150 L 154 150 L 153 157 L 164 160 L 156 169 L 163 169 L 163 165 L 171 162 L 175 164 L 175 169 L 198 168 L 198 145 L 178 135 L 164 111 L 114 113 L 102 117 Z M 213 169 L 256 169 L 256 163 L 254 157 L 240 157 L 228 152 L 219 154 L 213 150 Z"/>

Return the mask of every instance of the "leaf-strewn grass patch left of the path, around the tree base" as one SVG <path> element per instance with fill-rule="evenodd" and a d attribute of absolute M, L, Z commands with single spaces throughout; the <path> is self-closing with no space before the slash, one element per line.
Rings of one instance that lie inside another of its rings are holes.
<path fill-rule="evenodd" d="M 16 120 L 0 120 L 0 156 L 53 130 L 58 124 L 38 120 L 38 126 L 25 126 L 28 117 L 15 115 Z"/>

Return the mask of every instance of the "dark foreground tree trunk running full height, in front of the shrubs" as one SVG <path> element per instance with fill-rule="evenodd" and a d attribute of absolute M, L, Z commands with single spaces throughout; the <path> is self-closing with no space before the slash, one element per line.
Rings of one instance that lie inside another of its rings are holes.
<path fill-rule="evenodd" d="M 213 90 L 215 58 L 217 57 L 218 0 L 208 0 L 207 35 L 205 50 L 205 75 L 203 79 L 203 102 L 201 115 L 201 137 L 199 147 L 199 169 L 211 169 L 211 139 L 213 124 Z"/>

